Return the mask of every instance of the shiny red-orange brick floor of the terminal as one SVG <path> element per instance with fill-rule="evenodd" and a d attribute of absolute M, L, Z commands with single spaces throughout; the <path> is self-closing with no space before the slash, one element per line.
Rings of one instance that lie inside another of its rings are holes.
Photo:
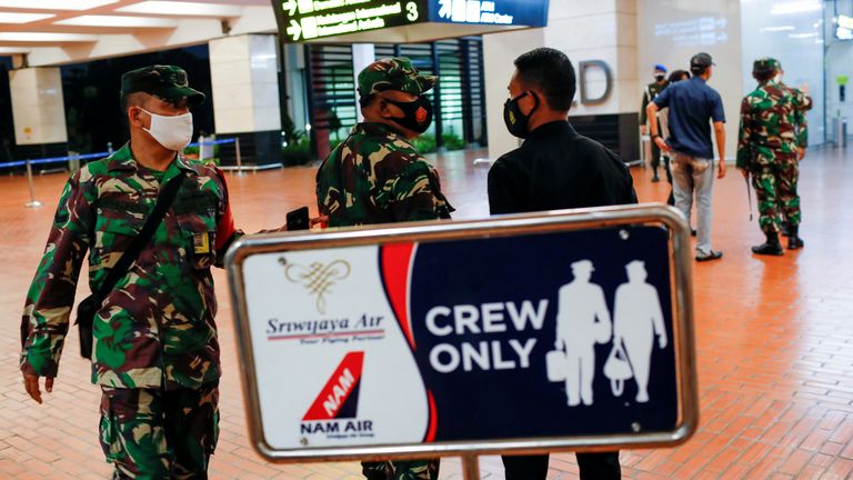
<path fill-rule="evenodd" d="M 449 154 L 438 161 L 455 218 L 488 213 L 486 168 Z M 247 231 L 284 222 L 312 204 L 310 168 L 230 176 L 234 216 Z M 641 201 L 666 198 L 665 182 L 634 169 Z M 106 479 L 110 468 L 97 442 L 98 398 L 76 333 L 53 393 L 38 406 L 21 387 L 18 323 L 64 176 L 38 178 L 46 208 L 24 209 L 26 183 L 0 178 L 0 479 Z M 761 240 L 749 221 L 740 174 L 715 186 L 713 246 L 721 261 L 694 273 L 701 426 L 684 446 L 622 452 L 626 479 L 853 478 L 853 152 L 815 151 L 802 164 L 806 248 L 757 258 Z M 313 209 L 312 209 L 313 210 Z M 222 437 L 213 479 L 358 479 L 354 463 L 273 466 L 247 440 L 230 302 L 217 273 L 223 362 Z M 82 289 L 81 292 L 82 293 Z M 500 459 L 481 460 L 482 477 L 502 479 Z M 460 479 L 459 461 L 442 463 L 442 479 Z M 573 454 L 551 460 L 551 479 L 575 479 Z"/>

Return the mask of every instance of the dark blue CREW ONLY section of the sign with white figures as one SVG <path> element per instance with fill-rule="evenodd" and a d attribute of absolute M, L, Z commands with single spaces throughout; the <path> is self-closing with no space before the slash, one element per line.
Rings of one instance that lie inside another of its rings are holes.
<path fill-rule="evenodd" d="M 429 440 L 672 430 L 668 236 L 622 228 L 419 244 L 409 311 L 435 403 Z"/>

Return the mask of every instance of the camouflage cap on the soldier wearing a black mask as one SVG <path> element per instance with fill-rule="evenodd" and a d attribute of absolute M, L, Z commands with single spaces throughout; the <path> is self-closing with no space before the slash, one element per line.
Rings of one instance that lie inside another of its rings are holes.
<path fill-rule="evenodd" d="M 421 74 L 405 57 L 377 60 L 359 73 L 359 94 L 368 97 L 381 91 L 398 90 L 412 94 L 429 91 L 438 77 Z"/>

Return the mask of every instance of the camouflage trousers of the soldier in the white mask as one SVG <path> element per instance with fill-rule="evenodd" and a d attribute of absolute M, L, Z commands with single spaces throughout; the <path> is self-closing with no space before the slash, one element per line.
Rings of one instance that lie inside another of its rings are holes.
<path fill-rule="evenodd" d="M 207 479 L 219 437 L 219 388 L 101 387 L 100 442 L 119 479 Z"/>

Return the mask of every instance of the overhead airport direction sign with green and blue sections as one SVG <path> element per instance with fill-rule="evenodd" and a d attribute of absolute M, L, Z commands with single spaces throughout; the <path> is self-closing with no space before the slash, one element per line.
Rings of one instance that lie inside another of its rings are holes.
<path fill-rule="evenodd" d="M 338 41 L 400 40 L 387 32 L 363 34 L 380 29 L 402 29 L 405 39 L 426 41 L 544 27 L 548 19 L 548 0 L 273 0 L 272 4 L 285 42 L 331 41 L 339 36 L 347 37 Z M 442 23 L 456 24 L 454 33 Z"/>

